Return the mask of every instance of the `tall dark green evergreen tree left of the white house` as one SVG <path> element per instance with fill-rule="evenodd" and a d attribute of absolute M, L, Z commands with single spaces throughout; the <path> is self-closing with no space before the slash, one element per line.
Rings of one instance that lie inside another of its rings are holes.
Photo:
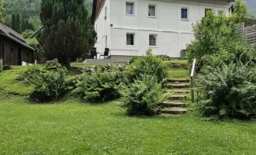
<path fill-rule="evenodd" d="M 93 46 L 96 34 L 88 21 L 84 0 L 44 0 L 40 19 L 44 26 L 40 43 L 47 59 L 57 57 L 61 64 L 70 67 L 71 60 Z"/>

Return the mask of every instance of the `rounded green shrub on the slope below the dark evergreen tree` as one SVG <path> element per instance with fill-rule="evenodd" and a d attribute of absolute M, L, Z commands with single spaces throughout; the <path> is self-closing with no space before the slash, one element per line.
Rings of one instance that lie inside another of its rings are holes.
<path fill-rule="evenodd" d="M 55 71 L 33 74 L 27 78 L 33 84 L 34 91 L 31 98 L 38 102 L 57 100 L 68 91 L 66 69 L 57 68 Z"/>

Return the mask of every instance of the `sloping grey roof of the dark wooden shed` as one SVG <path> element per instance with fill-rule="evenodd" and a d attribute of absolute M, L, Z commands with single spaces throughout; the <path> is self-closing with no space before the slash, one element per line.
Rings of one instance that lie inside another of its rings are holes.
<path fill-rule="evenodd" d="M 16 43 L 19 43 L 20 45 L 28 48 L 29 50 L 34 50 L 33 47 L 31 47 L 30 44 L 26 41 L 25 38 L 23 38 L 15 30 L 9 28 L 8 26 L 5 26 L 5 24 L 2 23 L 0 23 L 0 34 L 2 36 L 8 37 L 10 40 L 13 40 Z"/>

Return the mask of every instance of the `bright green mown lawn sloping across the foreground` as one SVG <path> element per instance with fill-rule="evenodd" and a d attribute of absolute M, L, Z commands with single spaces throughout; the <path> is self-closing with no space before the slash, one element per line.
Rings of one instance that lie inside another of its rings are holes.
<path fill-rule="evenodd" d="M 0 73 L 0 88 L 3 77 L 12 84 L 4 91 L 28 87 L 6 77 L 22 70 Z M 128 117 L 115 102 L 90 105 L 75 98 L 53 105 L 32 104 L 22 95 L 0 99 L 2 154 L 254 154 L 255 141 L 255 122 L 207 122 L 192 112 Z"/>

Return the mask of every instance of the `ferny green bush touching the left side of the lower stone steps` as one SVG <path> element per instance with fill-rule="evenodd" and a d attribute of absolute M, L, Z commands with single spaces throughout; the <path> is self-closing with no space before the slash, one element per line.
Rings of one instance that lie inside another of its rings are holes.
<path fill-rule="evenodd" d="M 140 75 L 130 85 L 120 84 L 119 92 L 128 115 L 156 115 L 159 113 L 159 104 L 166 99 L 154 75 Z"/>

